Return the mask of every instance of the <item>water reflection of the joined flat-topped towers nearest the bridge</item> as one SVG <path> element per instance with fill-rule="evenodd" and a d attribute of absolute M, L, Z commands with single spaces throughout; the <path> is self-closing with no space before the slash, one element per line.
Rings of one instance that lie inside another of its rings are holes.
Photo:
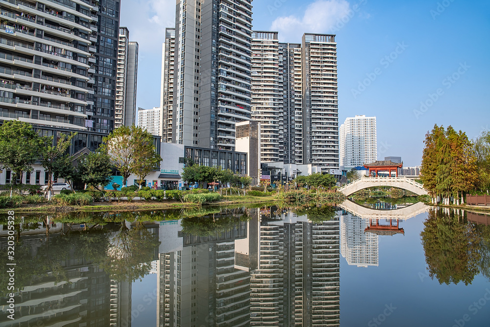
<path fill-rule="evenodd" d="M 250 326 L 339 326 L 339 220 L 261 215 L 259 233 Z"/>

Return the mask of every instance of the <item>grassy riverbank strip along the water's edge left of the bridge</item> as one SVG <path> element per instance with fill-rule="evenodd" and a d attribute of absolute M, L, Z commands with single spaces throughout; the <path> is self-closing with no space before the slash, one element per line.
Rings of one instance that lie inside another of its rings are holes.
<path fill-rule="evenodd" d="M 223 196 L 223 199 L 218 202 L 203 204 L 203 206 L 229 206 L 229 205 L 244 205 L 244 204 L 260 204 L 277 201 L 274 196 Z M 17 208 L 1 209 L 0 213 L 7 213 L 9 210 L 15 210 L 16 214 L 53 214 L 63 212 L 102 212 L 102 211 L 135 211 L 135 210 L 168 210 L 168 209 L 188 209 L 199 208 L 199 204 L 190 202 L 180 202 L 175 200 L 164 201 L 144 201 L 133 200 L 132 202 L 94 202 L 87 206 L 59 206 L 54 204 L 30 204 L 23 205 Z"/>

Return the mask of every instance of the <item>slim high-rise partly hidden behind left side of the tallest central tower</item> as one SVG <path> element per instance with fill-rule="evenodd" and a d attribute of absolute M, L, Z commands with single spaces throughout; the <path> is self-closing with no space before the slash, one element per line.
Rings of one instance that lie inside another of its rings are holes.
<path fill-rule="evenodd" d="M 160 136 L 162 142 L 172 142 L 173 69 L 175 67 L 175 28 L 165 29 L 162 48 L 162 86 L 160 90 Z"/>

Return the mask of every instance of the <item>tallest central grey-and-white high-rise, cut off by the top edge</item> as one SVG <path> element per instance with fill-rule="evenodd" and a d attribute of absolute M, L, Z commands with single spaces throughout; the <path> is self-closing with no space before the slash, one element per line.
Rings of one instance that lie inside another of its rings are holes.
<path fill-rule="evenodd" d="M 172 141 L 235 148 L 251 119 L 251 0 L 177 1 Z"/>

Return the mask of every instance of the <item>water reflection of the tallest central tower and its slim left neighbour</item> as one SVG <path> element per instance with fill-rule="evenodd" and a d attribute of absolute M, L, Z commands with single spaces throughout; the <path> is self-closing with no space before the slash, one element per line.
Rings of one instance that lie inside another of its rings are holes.
<path fill-rule="evenodd" d="M 174 233 L 160 253 L 157 325 L 247 326 L 250 276 L 235 266 L 235 240 L 246 237 L 247 222 L 212 236 L 183 234 L 179 225 L 167 226 Z"/>

